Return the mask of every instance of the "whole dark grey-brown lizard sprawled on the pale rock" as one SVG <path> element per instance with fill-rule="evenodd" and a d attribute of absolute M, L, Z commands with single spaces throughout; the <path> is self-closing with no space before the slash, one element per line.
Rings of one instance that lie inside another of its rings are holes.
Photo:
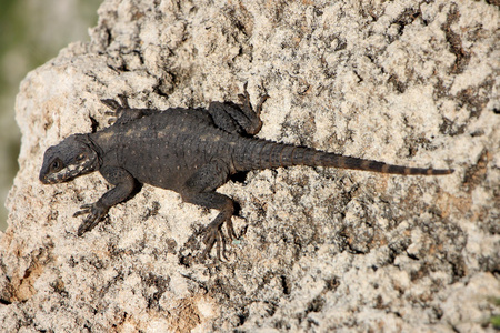
<path fill-rule="evenodd" d="M 218 260 L 221 252 L 227 260 L 227 239 L 237 238 L 231 221 L 234 202 L 216 190 L 237 172 L 292 165 L 401 175 L 453 172 L 393 165 L 259 139 L 254 135 L 262 127 L 260 113 L 269 97 L 263 95 L 253 109 L 247 84 L 243 90 L 238 95 L 239 103 L 210 102 L 208 109 L 132 109 L 124 95 L 118 97 L 121 103 L 103 99 L 101 102 L 111 109 L 107 114 L 116 119 L 114 123 L 93 133 L 71 134 L 48 148 L 39 179 L 43 184 L 56 184 L 99 171 L 114 185 L 97 202 L 83 204 L 74 213 L 73 216 L 87 214 L 78 228 L 78 236 L 92 230 L 111 206 L 133 196 L 144 183 L 176 191 L 184 202 L 219 211 L 204 230 L 201 259 L 216 245 Z"/>

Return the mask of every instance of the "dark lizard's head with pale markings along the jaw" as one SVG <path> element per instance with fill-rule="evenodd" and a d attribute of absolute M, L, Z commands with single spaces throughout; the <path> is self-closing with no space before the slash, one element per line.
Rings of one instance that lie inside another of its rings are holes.
<path fill-rule="evenodd" d="M 99 169 L 96 145 L 86 134 L 73 134 L 47 149 L 40 170 L 44 184 L 62 183 Z"/>

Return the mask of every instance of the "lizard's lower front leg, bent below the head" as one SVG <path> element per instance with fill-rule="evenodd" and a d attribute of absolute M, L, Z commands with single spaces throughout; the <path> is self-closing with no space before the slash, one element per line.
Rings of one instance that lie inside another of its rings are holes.
<path fill-rule="evenodd" d="M 108 182 L 116 186 L 106 192 L 97 202 L 83 204 L 81 210 L 74 213 L 73 216 L 88 214 L 78 228 L 79 236 L 92 230 L 106 216 L 111 206 L 127 200 L 137 185 L 136 179 L 122 168 L 103 167 L 100 172 Z"/>

